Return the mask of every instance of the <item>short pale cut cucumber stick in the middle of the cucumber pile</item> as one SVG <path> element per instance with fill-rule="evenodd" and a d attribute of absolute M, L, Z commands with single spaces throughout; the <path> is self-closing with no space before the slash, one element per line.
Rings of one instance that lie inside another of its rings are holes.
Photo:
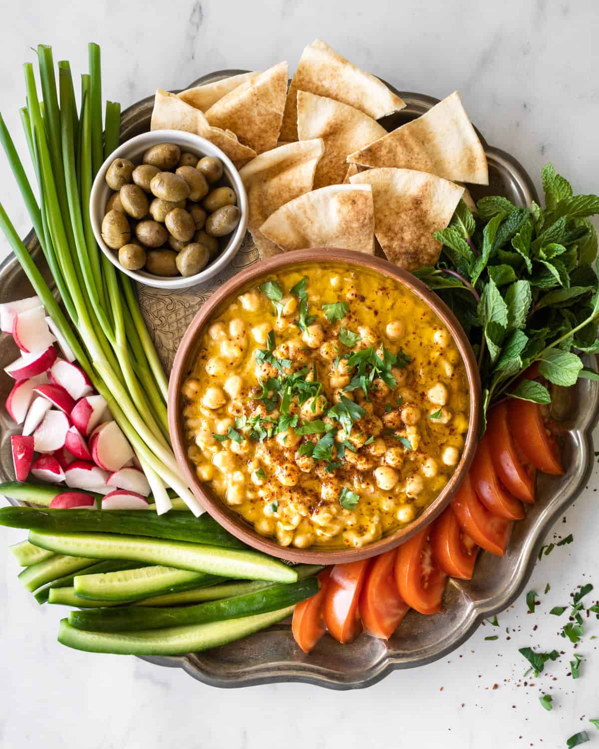
<path fill-rule="evenodd" d="M 90 570 L 91 572 L 91 570 Z M 222 577 L 189 572 L 174 567 L 147 566 L 138 569 L 77 575 L 73 583 L 79 598 L 99 601 L 139 601 L 159 592 L 177 592 L 202 585 L 222 583 Z"/>

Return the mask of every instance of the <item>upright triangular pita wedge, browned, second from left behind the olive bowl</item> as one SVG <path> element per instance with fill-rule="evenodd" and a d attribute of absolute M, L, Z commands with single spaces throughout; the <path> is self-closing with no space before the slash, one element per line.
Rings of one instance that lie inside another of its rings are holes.
<path fill-rule="evenodd" d="M 287 63 L 249 79 L 206 112 L 214 127 L 232 130 L 257 154 L 276 147 L 287 96 Z"/>

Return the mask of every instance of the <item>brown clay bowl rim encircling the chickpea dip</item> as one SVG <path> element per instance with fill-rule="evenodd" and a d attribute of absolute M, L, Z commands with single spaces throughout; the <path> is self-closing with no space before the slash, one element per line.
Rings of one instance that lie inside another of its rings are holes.
<path fill-rule="evenodd" d="M 210 315 L 224 300 L 233 296 L 246 283 L 284 267 L 314 263 L 314 261 L 341 262 L 353 267 L 365 267 L 375 270 L 387 278 L 401 282 L 402 285 L 425 302 L 446 325 L 463 359 L 468 378 L 470 417 L 466 443 L 464 444 L 460 462 L 457 464 L 456 470 L 451 479 L 449 479 L 449 482 L 447 482 L 446 487 L 437 499 L 412 524 L 359 549 L 335 549 L 332 551 L 317 547 L 296 549 L 280 546 L 275 541 L 260 536 L 240 515 L 228 509 L 222 500 L 213 496 L 197 479 L 192 463 L 187 457 L 187 448 L 183 435 L 181 385 L 192 364 L 191 357 L 192 355 L 195 356 L 195 342 L 198 339 L 198 334 L 201 327 L 210 318 Z M 478 443 L 480 389 L 478 366 L 466 333 L 446 303 L 440 297 L 437 297 L 437 294 L 434 294 L 422 281 L 419 281 L 416 276 L 413 276 L 406 270 L 401 270 L 389 263 L 389 261 L 374 257 L 373 255 L 364 255 L 361 252 L 354 252 L 348 249 L 335 249 L 334 247 L 313 247 L 311 249 L 285 252 L 283 255 L 276 255 L 273 258 L 241 270 L 240 273 L 237 273 L 237 275 L 223 284 L 218 291 L 215 291 L 210 299 L 204 302 L 201 309 L 195 315 L 195 318 L 189 324 L 185 335 L 181 339 L 177 354 L 174 357 L 171 377 L 168 383 L 168 429 L 171 434 L 174 455 L 177 458 L 177 462 L 189 488 L 207 512 L 222 527 L 225 527 L 229 533 L 236 536 L 237 539 L 240 539 L 252 548 L 258 549 L 258 551 L 264 551 L 273 557 L 279 557 L 290 562 L 306 562 L 322 565 L 356 562 L 357 560 L 374 557 L 376 554 L 383 554 L 383 552 L 389 551 L 406 542 L 434 521 L 446 506 L 449 505 L 459 488 L 460 482 L 466 476 Z"/>

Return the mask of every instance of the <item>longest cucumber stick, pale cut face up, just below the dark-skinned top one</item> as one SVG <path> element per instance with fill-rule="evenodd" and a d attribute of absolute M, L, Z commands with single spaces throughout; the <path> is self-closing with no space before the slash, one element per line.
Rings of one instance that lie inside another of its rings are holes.
<path fill-rule="evenodd" d="M 297 580 L 297 571 L 294 568 L 258 551 L 201 546 L 139 536 L 118 536 L 111 533 L 44 533 L 31 530 L 29 541 L 56 554 L 70 554 L 73 557 L 128 559 L 148 562 L 151 565 L 206 572 L 220 577 L 239 577 L 243 580 L 269 580 L 275 583 L 294 583 Z"/>

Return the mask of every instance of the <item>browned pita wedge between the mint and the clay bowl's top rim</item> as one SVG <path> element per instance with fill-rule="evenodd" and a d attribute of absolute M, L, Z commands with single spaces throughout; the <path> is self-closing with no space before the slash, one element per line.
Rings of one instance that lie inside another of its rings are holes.
<path fill-rule="evenodd" d="M 404 270 L 434 265 L 442 244 L 433 233 L 446 228 L 463 187 L 413 169 L 367 169 L 351 184 L 369 184 L 374 234 L 387 259 Z"/>

